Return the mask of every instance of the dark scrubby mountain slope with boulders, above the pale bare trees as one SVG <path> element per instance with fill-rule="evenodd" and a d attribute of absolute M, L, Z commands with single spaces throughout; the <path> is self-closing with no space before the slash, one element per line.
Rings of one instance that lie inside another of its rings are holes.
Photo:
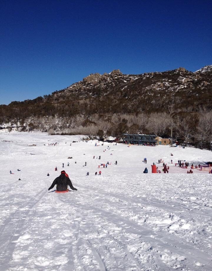
<path fill-rule="evenodd" d="M 184 77 L 192 80 L 189 81 L 192 87 L 182 83 Z M 208 83 L 203 84 L 203 81 Z M 189 106 L 198 112 L 199 106 L 212 109 L 210 86 L 210 74 L 201 74 L 201 79 L 195 79 L 195 74 L 188 71 L 183 74 L 174 70 L 153 75 L 108 75 L 100 77 L 95 84 L 81 81 L 67 89 L 52 92 L 52 95 L 0 105 L 0 123 L 24 122 L 32 116 L 72 118 L 93 114 L 151 114 L 169 112 L 168 108 L 173 105 L 175 112 Z"/>

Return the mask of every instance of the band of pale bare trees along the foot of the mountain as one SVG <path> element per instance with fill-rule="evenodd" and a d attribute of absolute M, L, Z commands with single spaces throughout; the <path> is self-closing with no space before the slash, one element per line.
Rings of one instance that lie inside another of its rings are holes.
<path fill-rule="evenodd" d="M 22 131 L 41 130 L 50 134 L 86 134 L 89 137 L 98 135 L 122 137 L 123 133 L 155 134 L 170 137 L 173 127 L 173 138 L 180 143 L 191 144 L 200 148 L 211 149 L 212 145 L 212 110 L 199 107 L 184 108 L 175 112 L 169 107 L 168 112 L 154 113 L 108 113 L 108 114 L 75 114 L 71 117 L 31 116 L 15 119 L 12 126 L 21 126 Z"/>

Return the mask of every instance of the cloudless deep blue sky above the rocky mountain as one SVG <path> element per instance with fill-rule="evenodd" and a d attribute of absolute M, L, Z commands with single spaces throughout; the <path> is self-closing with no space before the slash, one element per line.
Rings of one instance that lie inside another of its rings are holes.
<path fill-rule="evenodd" d="M 212 1 L 0 0 L 0 104 L 95 72 L 212 64 Z"/>

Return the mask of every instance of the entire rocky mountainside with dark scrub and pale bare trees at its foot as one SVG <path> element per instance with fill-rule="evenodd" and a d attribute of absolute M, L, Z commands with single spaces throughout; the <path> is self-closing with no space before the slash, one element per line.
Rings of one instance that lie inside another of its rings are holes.
<path fill-rule="evenodd" d="M 66 89 L 0 106 L 0 122 L 65 134 L 123 132 L 170 135 L 210 148 L 212 66 L 198 72 L 91 74 Z"/>

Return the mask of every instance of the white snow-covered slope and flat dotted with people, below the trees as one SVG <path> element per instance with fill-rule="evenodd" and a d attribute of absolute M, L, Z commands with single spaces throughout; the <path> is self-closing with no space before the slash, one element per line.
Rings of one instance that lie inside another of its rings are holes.
<path fill-rule="evenodd" d="M 202 164 L 212 153 L 101 142 L 95 147 L 97 141 L 70 146 L 80 137 L 0 134 L 0 270 L 212 270 L 212 174 L 208 168 L 186 174 L 170 164 Z M 59 144 L 48 146 L 52 142 Z M 150 173 L 159 158 L 169 174 Z M 48 191 L 62 163 L 78 191 Z"/>

